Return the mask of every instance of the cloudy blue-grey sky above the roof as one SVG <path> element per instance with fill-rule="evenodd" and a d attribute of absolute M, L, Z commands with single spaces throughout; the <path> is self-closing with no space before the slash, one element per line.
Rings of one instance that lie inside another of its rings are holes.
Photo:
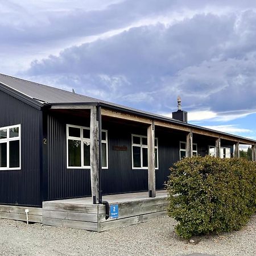
<path fill-rule="evenodd" d="M 256 1 L 5 0 L 0 73 L 256 139 Z M 170 115 L 171 116 L 171 115 Z"/>

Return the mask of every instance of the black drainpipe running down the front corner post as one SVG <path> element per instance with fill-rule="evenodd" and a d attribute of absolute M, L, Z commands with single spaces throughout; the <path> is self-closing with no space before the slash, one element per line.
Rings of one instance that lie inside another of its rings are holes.
<path fill-rule="evenodd" d="M 100 189 L 99 191 L 99 203 L 105 205 L 105 211 L 106 211 L 106 220 L 109 218 L 109 203 L 108 201 L 102 201 L 102 189 L 101 189 L 101 178 L 102 178 L 102 127 L 101 127 L 101 106 L 98 106 L 98 168 L 99 168 L 99 174 L 98 174 L 98 187 Z M 108 148 L 107 148 L 108 150 Z"/>

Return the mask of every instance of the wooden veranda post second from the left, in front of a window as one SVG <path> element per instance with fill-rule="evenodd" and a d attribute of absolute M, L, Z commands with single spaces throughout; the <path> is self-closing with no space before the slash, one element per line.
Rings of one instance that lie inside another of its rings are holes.
<path fill-rule="evenodd" d="M 155 125 L 147 128 L 148 196 L 155 197 Z"/>

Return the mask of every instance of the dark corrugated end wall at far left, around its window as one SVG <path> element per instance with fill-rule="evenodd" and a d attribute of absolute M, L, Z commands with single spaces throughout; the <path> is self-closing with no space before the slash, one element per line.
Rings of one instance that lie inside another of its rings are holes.
<path fill-rule="evenodd" d="M 40 110 L 0 91 L 0 127 L 21 125 L 21 170 L 0 170 L 0 204 L 40 206 Z"/>

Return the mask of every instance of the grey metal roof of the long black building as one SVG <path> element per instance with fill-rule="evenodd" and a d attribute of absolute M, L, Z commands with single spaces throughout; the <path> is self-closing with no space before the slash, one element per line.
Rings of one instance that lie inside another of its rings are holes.
<path fill-rule="evenodd" d="M 117 109 L 123 112 L 129 112 L 137 115 L 142 115 L 148 118 L 155 118 L 165 122 L 178 123 L 179 125 L 196 128 L 200 130 L 212 131 L 217 134 L 228 135 L 237 139 L 246 139 L 247 141 L 256 144 L 253 139 L 243 138 L 237 135 L 222 133 L 221 131 L 215 131 L 207 129 L 205 127 L 191 125 L 189 123 L 184 123 L 179 120 L 169 118 L 163 115 L 158 115 L 150 112 L 145 112 L 138 109 L 129 108 L 127 106 L 122 106 L 114 104 L 112 102 L 99 100 L 97 98 L 92 98 L 84 96 L 81 94 L 68 92 L 67 90 L 62 90 L 54 88 L 52 86 L 47 86 L 43 84 L 38 84 L 36 82 L 31 82 L 23 79 L 19 79 L 12 76 L 3 75 L 0 73 L 0 89 L 12 94 L 14 97 L 35 106 L 35 108 L 41 109 L 44 105 L 101 105 L 106 108 Z"/>

